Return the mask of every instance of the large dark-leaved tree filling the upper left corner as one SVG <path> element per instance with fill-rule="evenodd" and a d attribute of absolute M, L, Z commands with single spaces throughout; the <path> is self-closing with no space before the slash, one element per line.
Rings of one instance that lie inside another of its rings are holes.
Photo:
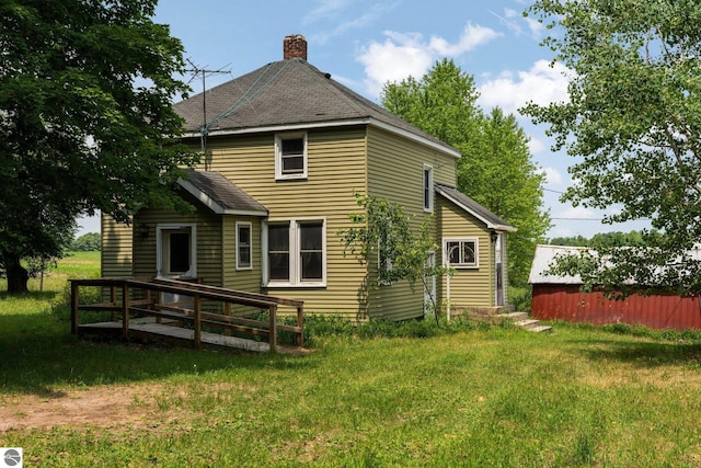
<path fill-rule="evenodd" d="M 26 290 L 23 258 L 50 258 L 76 217 L 127 221 L 181 204 L 174 145 L 186 90 L 182 44 L 154 24 L 156 0 L 7 0 L 0 4 L 0 269 Z"/>

